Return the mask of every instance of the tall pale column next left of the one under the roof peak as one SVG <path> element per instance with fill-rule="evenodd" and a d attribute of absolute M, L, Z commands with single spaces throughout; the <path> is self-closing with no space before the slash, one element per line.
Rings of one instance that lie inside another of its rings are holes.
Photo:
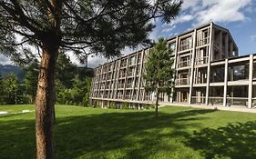
<path fill-rule="evenodd" d="M 192 88 L 193 88 L 193 79 L 194 79 L 194 66 L 195 66 L 195 56 L 196 56 L 196 40 L 197 40 L 197 29 L 194 30 L 193 34 L 193 50 L 192 50 L 192 58 L 191 58 L 191 71 L 189 77 L 189 104 L 191 104 L 192 100 Z"/>

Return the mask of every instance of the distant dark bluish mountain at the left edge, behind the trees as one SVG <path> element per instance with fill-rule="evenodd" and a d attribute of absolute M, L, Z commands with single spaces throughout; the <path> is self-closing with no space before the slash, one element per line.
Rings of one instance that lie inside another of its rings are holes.
<path fill-rule="evenodd" d="M 19 79 L 23 79 L 24 77 L 24 72 L 22 71 L 22 68 L 16 65 L 0 65 L 0 74 L 15 74 Z"/>

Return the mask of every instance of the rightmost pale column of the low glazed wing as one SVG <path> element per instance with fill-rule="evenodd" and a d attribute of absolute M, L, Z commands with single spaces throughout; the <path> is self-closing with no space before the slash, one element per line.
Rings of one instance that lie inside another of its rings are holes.
<path fill-rule="evenodd" d="M 253 55 L 250 55 L 249 85 L 248 85 L 248 108 L 252 107 L 252 78 L 253 78 Z"/>

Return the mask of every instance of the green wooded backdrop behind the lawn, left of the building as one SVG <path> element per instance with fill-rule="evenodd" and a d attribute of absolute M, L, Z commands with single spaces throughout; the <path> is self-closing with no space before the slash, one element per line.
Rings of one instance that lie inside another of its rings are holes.
<path fill-rule="evenodd" d="M 38 61 L 25 66 L 0 65 L 0 104 L 34 104 Z M 87 106 L 93 69 L 73 65 L 60 54 L 56 65 L 56 104 Z"/>

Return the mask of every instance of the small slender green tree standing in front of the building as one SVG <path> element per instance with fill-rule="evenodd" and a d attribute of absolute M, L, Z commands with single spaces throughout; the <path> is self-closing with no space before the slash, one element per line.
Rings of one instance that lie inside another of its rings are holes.
<path fill-rule="evenodd" d="M 171 54 L 172 50 L 169 49 L 167 41 L 159 38 L 159 42 L 150 50 L 145 65 L 145 88 L 146 91 L 156 94 L 156 117 L 159 115 L 159 93 L 170 94 L 173 86 L 174 59 L 171 58 Z"/>

